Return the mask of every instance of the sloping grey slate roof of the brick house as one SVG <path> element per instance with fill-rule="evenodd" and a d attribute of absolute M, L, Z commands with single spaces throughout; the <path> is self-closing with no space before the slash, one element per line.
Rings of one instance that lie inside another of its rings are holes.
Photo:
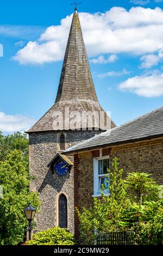
<path fill-rule="evenodd" d="M 163 136 L 163 107 L 155 109 L 141 117 L 117 126 L 87 139 L 64 151 L 64 154 L 72 154 L 78 151 L 85 151 L 94 148 L 111 147 L 123 143 L 141 141 L 154 137 Z"/>

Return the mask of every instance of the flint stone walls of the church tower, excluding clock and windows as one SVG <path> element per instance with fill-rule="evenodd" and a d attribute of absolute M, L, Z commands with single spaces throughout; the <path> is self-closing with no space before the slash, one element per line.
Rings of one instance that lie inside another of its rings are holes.
<path fill-rule="evenodd" d="M 66 147 L 89 139 L 100 131 L 65 131 Z M 58 176 L 52 174 L 47 165 L 58 152 L 57 131 L 33 132 L 29 134 L 30 174 L 35 181 L 30 190 L 38 191 L 41 199 L 40 213 L 37 215 L 37 229 L 43 230 L 57 225 L 57 195 L 66 193 L 68 200 L 68 228 L 74 232 L 74 177 L 70 174 Z M 73 156 L 69 157 L 73 162 Z"/>

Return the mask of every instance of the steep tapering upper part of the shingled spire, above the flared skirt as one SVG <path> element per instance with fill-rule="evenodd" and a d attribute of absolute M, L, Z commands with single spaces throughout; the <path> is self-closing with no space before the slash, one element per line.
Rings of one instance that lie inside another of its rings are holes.
<path fill-rule="evenodd" d="M 73 14 L 56 101 L 98 101 L 77 10 Z"/>

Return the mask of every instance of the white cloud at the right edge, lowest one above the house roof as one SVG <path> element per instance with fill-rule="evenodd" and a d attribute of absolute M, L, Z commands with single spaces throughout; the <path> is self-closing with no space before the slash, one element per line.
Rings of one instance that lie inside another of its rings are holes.
<path fill-rule="evenodd" d="M 163 74 L 135 76 L 122 82 L 118 88 L 144 97 L 163 95 Z"/>

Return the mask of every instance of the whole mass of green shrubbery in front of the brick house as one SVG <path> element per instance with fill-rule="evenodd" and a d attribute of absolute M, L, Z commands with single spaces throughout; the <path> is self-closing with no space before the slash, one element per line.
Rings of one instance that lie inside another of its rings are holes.
<path fill-rule="evenodd" d="M 87 243 L 95 241 L 96 234 L 111 231 L 134 230 L 136 241 L 158 244 L 162 239 L 163 200 L 158 197 L 159 186 L 147 173 L 128 173 L 122 179 L 123 169 L 118 169 L 115 158 L 108 170 L 110 195 L 101 191 L 102 197 L 93 199 L 90 209 L 77 209 L 80 234 Z"/>

